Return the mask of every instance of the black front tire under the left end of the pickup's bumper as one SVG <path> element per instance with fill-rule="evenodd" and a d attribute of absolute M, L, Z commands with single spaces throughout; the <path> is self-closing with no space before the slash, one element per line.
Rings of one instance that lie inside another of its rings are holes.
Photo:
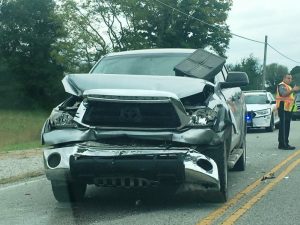
<path fill-rule="evenodd" d="M 87 184 L 51 181 L 51 186 L 53 195 L 58 202 L 76 202 L 83 199 Z"/>

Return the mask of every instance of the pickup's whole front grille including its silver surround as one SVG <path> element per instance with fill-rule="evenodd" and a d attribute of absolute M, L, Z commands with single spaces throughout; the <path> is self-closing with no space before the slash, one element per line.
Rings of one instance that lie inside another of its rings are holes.
<path fill-rule="evenodd" d="M 179 128 L 190 121 L 181 101 L 170 92 L 94 89 L 83 96 L 86 101 L 74 120 L 84 126 Z"/>

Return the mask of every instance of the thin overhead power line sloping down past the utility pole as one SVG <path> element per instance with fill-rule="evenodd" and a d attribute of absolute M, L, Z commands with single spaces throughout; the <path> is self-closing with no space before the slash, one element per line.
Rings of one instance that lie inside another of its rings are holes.
<path fill-rule="evenodd" d="M 192 15 L 189 15 L 189 14 L 187 14 L 187 13 L 185 13 L 185 12 L 183 12 L 183 11 L 181 11 L 181 10 L 179 10 L 179 9 L 177 9 L 177 8 L 175 8 L 175 7 L 173 7 L 173 6 L 170 6 L 170 5 L 164 3 L 164 2 L 162 2 L 162 1 L 160 1 L 160 0 L 154 0 L 154 1 L 160 3 L 161 5 L 164 5 L 164 6 L 168 7 L 168 8 L 170 8 L 170 9 L 174 10 L 174 11 L 177 11 L 177 12 L 179 12 L 179 13 L 181 13 L 181 14 L 183 14 L 183 15 L 189 17 L 189 18 L 195 19 L 195 20 L 197 20 L 198 22 L 201 22 L 201 23 L 203 23 L 203 24 L 205 24 L 205 25 L 207 25 L 207 26 L 210 26 L 210 27 L 213 27 L 213 28 L 216 28 L 216 29 L 220 29 L 220 30 L 224 30 L 224 28 L 222 28 L 222 27 L 218 27 L 218 26 L 209 24 L 209 23 L 207 23 L 207 22 L 205 22 L 205 21 L 203 21 L 203 20 L 200 20 L 200 19 L 198 19 L 198 18 L 196 18 L 196 17 L 194 17 L 194 16 L 192 16 Z M 229 32 L 229 34 L 231 34 L 232 36 L 238 37 L 238 38 L 242 38 L 242 39 L 248 40 L 248 41 L 256 42 L 256 43 L 259 43 L 259 44 L 265 44 L 265 42 L 263 42 L 263 41 L 254 40 L 254 39 L 251 39 L 251 38 L 248 38 L 248 37 L 244 37 L 244 36 L 239 35 L 239 34 L 235 34 L 235 33 L 231 33 L 231 32 Z M 300 62 L 291 59 L 290 57 L 288 57 L 288 56 L 286 56 L 285 54 L 283 54 L 283 53 L 281 53 L 280 51 L 278 51 L 276 48 L 272 47 L 270 44 L 267 44 L 267 45 L 268 45 L 270 48 L 272 48 L 274 51 L 276 51 L 278 54 L 280 54 L 282 57 L 284 57 L 284 58 L 286 58 L 286 59 L 288 59 L 288 60 L 291 60 L 291 61 L 293 61 L 293 62 L 295 62 L 295 63 L 299 63 L 299 64 L 300 64 Z"/>

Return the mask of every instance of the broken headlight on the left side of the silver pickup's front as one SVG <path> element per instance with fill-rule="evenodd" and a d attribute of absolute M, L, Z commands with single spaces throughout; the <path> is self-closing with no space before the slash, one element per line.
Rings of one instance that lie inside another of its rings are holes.
<path fill-rule="evenodd" d="M 73 116 L 63 111 L 52 113 L 49 122 L 53 128 L 77 128 L 77 123 L 73 120 Z"/>

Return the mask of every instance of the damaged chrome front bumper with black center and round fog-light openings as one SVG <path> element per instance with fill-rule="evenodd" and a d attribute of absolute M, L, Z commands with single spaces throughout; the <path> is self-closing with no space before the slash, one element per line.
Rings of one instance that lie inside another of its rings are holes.
<path fill-rule="evenodd" d="M 49 180 L 126 188 L 175 184 L 184 189 L 220 189 L 214 160 L 187 147 L 166 150 L 79 144 L 44 149 L 44 165 Z"/>

